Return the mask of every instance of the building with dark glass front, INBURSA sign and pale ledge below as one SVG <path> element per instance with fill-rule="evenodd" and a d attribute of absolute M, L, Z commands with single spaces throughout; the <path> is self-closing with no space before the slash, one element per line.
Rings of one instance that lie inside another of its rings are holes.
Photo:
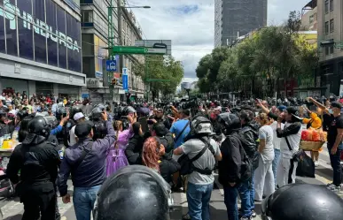
<path fill-rule="evenodd" d="M 80 99 L 80 19 L 77 0 L 0 0 L 1 92 Z"/>

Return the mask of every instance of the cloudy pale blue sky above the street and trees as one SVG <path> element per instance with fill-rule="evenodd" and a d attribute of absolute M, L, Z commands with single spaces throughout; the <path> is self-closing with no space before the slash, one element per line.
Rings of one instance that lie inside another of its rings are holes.
<path fill-rule="evenodd" d="M 301 11 L 309 0 L 268 0 L 268 24 L 278 25 L 289 11 Z M 143 39 L 171 40 L 172 55 L 184 68 L 183 81 L 195 81 L 201 57 L 214 49 L 214 0 L 127 0 L 143 30 Z"/>

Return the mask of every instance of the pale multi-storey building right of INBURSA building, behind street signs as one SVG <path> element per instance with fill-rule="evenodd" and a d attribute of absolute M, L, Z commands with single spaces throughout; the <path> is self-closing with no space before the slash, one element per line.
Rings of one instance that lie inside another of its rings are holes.
<path fill-rule="evenodd" d="M 118 2 L 121 1 L 121 2 Z M 82 94 L 91 102 L 126 101 L 125 91 L 119 85 L 110 89 L 111 80 L 121 82 L 122 68 L 129 72 L 129 92 L 136 97 L 144 96 L 144 83 L 132 71 L 135 63 L 142 63 L 135 55 L 109 57 L 109 17 L 108 7 L 112 8 L 112 33 L 114 45 L 133 46 L 142 40 L 142 31 L 132 11 L 128 11 L 123 0 L 81 0 L 82 14 L 82 70 L 87 75 L 87 89 Z M 119 30 L 121 29 L 121 31 Z M 116 59 L 116 71 L 106 72 L 105 61 Z"/>

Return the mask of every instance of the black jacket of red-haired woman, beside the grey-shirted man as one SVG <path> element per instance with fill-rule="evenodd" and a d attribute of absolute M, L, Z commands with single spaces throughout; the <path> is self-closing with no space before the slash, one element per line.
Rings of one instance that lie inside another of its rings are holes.
<path fill-rule="evenodd" d="M 172 183 L 172 175 L 181 169 L 181 165 L 177 163 L 170 156 L 162 156 L 160 158 L 160 176 L 167 181 L 167 183 Z"/>

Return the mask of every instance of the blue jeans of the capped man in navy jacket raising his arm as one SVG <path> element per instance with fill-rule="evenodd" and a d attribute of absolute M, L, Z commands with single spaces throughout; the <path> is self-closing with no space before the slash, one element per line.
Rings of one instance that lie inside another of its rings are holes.
<path fill-rule="evenodd" d="M 90 220 L 100 186 L 74 187 L 74 210 L 77 220 Z"/>

